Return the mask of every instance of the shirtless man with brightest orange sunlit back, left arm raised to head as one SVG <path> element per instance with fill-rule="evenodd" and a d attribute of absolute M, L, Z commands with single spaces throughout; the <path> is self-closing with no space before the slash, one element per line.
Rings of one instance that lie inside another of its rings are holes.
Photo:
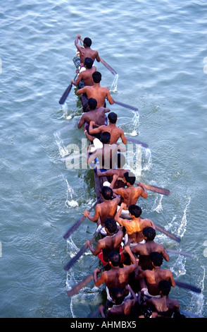
<path fill-rule="evenodd" d="M 153 227 L 156 230 L 156 226 L 154 225 L 153 221 L 150 219 L 142 219 L 140 215 L 142 215 L 142 208 L 132 204 L 129 207 L 129 213 L 131 220 L 120 218 L 123 208 L 125 208 L 125 203 L 121 203 L 120 209 L 116 213 L 114 219 L 117 221 L 121 226 L 125 226 L 128 241 L 127 244 L 137 244 L 139 242 L 144 241 L 143 233 L 144 227 Z"/>

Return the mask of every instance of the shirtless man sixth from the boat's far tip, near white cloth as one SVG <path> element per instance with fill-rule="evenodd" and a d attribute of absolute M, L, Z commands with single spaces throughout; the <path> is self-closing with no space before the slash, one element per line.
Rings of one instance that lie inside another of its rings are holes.
<path fill-rule="evenodd" d="M 113 169 L 117 165 L 118 151 L 125 152 L 125 146 L 118 144 L 109 144 L 111 135 L 106 131 L 101 133 L 102 148 L 97 148 L 92 155 L 88 158 L 88 163 L 93 162 L 96 158 L 99 160 L 99 164 L 96 167 L 101 170 Z"/>

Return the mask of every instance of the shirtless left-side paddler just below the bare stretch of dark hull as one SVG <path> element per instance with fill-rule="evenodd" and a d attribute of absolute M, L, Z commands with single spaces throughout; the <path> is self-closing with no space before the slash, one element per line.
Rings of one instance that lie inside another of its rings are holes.
<path fill-rule="evenodd" d="M 103 202 L 96 205 L 93 217 L 90 215 L 89 211 L 84 211 L 84 216 L 98 226 L 104 226 L 104 220 L 106 218 L 114 218 L 118 203 L 120 202 L 119 196 L 115 195 L 113 198 L 113 191 L 109 186 L 102 187 L 101 196 L 103 197 Z"/>

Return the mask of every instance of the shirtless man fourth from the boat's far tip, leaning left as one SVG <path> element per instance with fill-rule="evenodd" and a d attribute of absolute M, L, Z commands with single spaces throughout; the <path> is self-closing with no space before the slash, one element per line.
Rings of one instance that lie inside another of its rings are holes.
<path fill-rule="evenodd" d="M 97 102 L 94 98 L 89 98 L 88 100 L 88 108 L 89 112 L 85 112 L 82 114 L 82 117 L 77 122 L 77 128 L 81 128 L 85 122 L 87 123 L 87 126 L 85 126 L 85 129 L 89 128 L 90 121 L 95 121 L 96 124 L 101 126 L 105 123 L 106 119 L 106 113 L 110 112 L 109 108 L 100 107 L 96 108 Z M 87 130 L 88 131 L 88 130 Z"/>

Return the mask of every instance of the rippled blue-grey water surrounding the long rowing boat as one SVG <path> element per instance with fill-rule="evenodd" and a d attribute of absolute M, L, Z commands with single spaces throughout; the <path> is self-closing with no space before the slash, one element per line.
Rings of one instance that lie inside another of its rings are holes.
<path fill-rule="evenodd" d="M 98 265 L 87 251 L 63 266 L 94 234 L 85 220 L 68 242 L 63 234 L 92 206 L 92 170 L 68 170 L 65 148 L 84 138 L 76 129 L 81 105 L 74 89 L 77 34 L 118 73 L 102 64 L 101 85 L 139 114 L 111 106 L 127 134 L 149 144 L 143 182 L 168 188 L 149 193 L 144 215 L 182 238 L 157 241 L 196 259 L 170 256 L 175 278 L 201 295 L 175 287 L 184 310 L 206 317 L 206 1 L 23 1 L 1 8 L 1 317 L 86 317 L 105 300 L 90 283 L 73 287 Z M 87 13 L 87 15 L 86 15 Z M 94 244 L 96 241 L 94 242 Z"/>

